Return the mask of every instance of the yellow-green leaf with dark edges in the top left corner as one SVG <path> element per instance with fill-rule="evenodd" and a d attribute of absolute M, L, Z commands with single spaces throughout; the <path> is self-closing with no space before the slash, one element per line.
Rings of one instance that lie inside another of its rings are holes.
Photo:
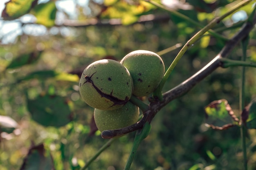
<path fill-rule="evenodd" d="M 15 20 L 26 13 L 37 4 L 38 0 L 10 0 L 5 3 L 2 11 L 4 20 Z"/>

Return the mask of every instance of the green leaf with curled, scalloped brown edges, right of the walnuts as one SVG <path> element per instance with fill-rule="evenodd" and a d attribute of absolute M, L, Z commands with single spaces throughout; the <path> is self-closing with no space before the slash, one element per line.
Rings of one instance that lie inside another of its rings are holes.
<path fill-rule="evenodd" d="M 211 102 L 205 108 L 206 124 L 213 129 L 225 130 L 237 126 L 239 119 L 234 115 L 227 100 L 220 99 Z"/>

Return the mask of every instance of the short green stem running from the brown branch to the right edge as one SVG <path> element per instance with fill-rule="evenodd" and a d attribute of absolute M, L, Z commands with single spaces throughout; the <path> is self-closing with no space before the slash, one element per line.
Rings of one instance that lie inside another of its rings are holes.
<path fill-rule="evenodd" d="M 231 60 L 227 58 L 221 58 L 220 61 L 222 62 L 222 67 L 227 68 L 231 66 L 249 66 L 249 67 L 256 67 L 256 63 L 254 62 L 246 62 L 240 60 Z"/>

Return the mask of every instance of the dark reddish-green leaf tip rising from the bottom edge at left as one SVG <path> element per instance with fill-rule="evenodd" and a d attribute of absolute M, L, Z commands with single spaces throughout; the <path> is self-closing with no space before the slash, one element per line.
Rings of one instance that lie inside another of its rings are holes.
<path fill-rule="evenodd" d="M 51 153 L 43 144 L 31 147 L 20 170 L 55 170 Z"/>

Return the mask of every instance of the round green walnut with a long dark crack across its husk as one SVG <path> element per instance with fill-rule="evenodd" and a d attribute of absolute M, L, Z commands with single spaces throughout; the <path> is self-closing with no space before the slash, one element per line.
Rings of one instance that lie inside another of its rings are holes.
<path fill-rule="evenodd" d="M 115 60 L 98 60 L 87 66 L 79 82 L 82 99 L 89 106 L 114 110 L 132 96 L 132 78 L 125 66 Z"/>

